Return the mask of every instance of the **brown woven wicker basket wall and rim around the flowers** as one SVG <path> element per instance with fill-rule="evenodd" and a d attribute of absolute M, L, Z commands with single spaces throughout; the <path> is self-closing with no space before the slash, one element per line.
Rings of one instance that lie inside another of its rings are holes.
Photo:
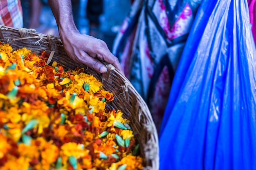
<path fill-rule="evenodd" d="M 124 113 L 124 117 L 131 121 L 130 126 L 140 146 L 140 155 L 145 160 L 145 169 L 158 170 L 158 136 L 150 111 L 130 81 L 114 66 L 106 65 L 108 72 L 100 74 L 85 65 L 75 63 L 64 52 L 60 39 L 53 35 L 36 33 L 34 29 L 15 29 L 0 25 L 0 41 L 10 44 L 13 50 L 25 47 L 38 54 L 46 50 L 50 53 L 48 64 L 56 61 L 70 69 L 78 66 L 85 68 L 85 73 L 95 76 L 103 84 L 103 89 L 114 95 L 115 100 L 110 102 L 107 107 L 120 109 Z"/>

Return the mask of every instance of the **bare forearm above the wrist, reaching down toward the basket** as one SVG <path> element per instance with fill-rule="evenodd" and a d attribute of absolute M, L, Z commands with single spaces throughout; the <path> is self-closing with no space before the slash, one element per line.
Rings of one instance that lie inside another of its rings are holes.
<path fill-rule="evenodd" d="M 71 0 L 48 0 L 49 6 L 56 19 L 60 37 L 79 33 L 74 24 Z"/>

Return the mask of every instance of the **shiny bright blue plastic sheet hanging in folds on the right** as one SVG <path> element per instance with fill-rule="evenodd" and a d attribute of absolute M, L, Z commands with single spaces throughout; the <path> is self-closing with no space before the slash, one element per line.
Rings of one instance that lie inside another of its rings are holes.
<path fill-rule="evenodd" d="M 246 0 L 204 0 L 159 134 L 160 170 L 256 169 L 256 49 Z"/>

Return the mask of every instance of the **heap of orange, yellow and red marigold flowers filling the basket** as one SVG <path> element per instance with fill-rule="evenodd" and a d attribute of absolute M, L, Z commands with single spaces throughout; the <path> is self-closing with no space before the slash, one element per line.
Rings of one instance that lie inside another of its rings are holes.
<path fill-rule="evenodd" d="M 48 57 L 0 42 L 0 169 L 143 169 L 112 93 Z"/>

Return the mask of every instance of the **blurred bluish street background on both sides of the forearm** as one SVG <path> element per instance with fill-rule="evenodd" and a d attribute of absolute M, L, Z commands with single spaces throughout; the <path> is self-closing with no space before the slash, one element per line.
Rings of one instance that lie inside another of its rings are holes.
<path fill-rule="evenodd" d="M 21 0 L 24 28 L 58 36 L 47 0 Z M 113 41 L 130 10 L 130 0 L 72 0 L 76 27 L 83 34 L 102 39 L 112 51 Z"/>

